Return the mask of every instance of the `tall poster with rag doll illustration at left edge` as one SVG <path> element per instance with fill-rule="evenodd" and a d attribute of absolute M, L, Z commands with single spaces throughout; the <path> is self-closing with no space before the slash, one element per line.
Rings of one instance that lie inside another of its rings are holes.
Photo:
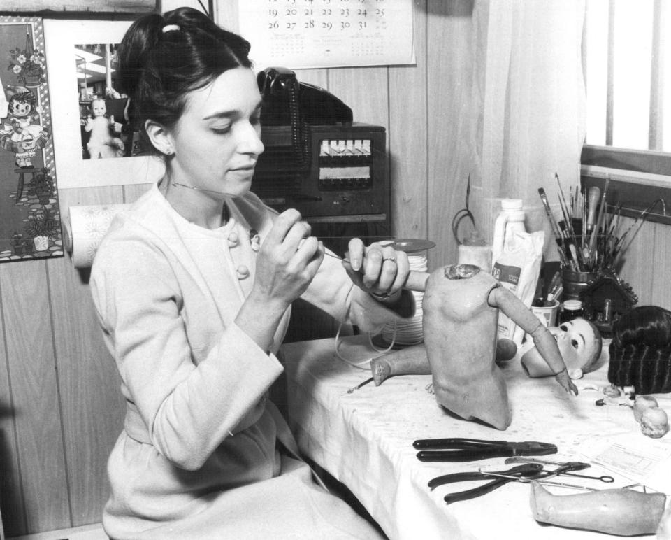
<path fill-rule="evenodd" d="M 0 262 L 62 257 L 40 17 L 0 17 Z"/>

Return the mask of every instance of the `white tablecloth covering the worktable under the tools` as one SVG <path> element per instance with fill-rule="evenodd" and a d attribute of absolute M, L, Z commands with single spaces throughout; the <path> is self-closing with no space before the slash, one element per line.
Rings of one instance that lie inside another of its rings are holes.
<path fill-rule="evenodd" d="M 504 371 L 512 409 L 512 425 L 499 431 L 477 422 L 454 418 L 435 402 L 427 390 L 431 376 L 407 375 L 389 378 L 379 387 L 373 383 L 348 393 L 370 376 L 335 355 L 335 340 L 320 339 L 288 343 L 282 347 L 287 368 L 289 424 L 301 450 L 338 481 L 347 485 L 384 532 L 396 539 L 598 539 L 607 534 L 568 530 L 537 523 L 529 504 L 526 483 L 508 483 L 477 499 L 445 504 L 452 491 L 481 483 L 443 485 L 431 491 L 431 478 L 478 468 L 498 471 L 512 467 L 504 458 L 466 463 L 429 463 L 417 460 L 412 447 L 416 439 L 468 437 L 486 440 L 542 441 L 558 446 L 558 453 L 540 456 L 553 461 L 586 461 L 584 450 L 610 438 L 624 436 L 643 446 L 671 442 L 650 439 L 628 406 L 596 406 L 603 398 L 598 390 L 582 390 L 577 397 L 563 392 L 554 378 L 531 379 L 519 360 L 508 362 Z M 377 356 L 365 336 L 349 336 L 340 346 L 342 357 L 351 361 Z M 604 353 L 607 355 L 607 351 Z M 603 355 L 602 355 L 603 356 Z M 607 385 L 607 362 L 598 371 L 576 381 L 579 388 L 596 383 Z M 657 396 L 660 406 L 671 412 L 671 399 Z M 621 488 L 632 484 L 597 464 L 582 471 L 598 476 L 610 474 L 615 483 L 562 476 L 559 481 L 593 488 Z M 555 495 L 583 491 L 549 487 Z M 666 491 L 667 493 L 669 491 Z"/>

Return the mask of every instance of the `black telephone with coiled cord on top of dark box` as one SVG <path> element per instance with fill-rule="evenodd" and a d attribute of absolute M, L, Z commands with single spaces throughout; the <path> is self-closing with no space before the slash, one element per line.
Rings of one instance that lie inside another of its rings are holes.
<path fill-rule="evenodd" d="M 310 166 L 311 125 L 352 125 L 352 109 L 323 88 L 299 83 L 287 68 L 269 67 L 257 75 L 264 99 L 261 124 L 290 126 L 296 166 Z"/>

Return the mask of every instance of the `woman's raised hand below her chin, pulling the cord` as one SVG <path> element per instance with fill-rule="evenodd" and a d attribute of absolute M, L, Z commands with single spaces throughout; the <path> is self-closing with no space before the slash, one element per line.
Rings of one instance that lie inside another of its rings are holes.
<path fill-rule="evenodd" d="M 259 249 L 252 294 L 286 309 L 301 296 L 324 258 L 324 246 L 293 208 L 282 212 Z"/>

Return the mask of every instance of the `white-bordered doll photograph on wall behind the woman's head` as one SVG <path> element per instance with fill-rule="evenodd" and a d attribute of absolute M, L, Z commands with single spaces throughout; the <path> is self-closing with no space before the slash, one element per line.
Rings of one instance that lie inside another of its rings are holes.
<path fill-rule="evenodd" d="M 45 20 L 59 188 L 144 184 L 164 165 L 127 119 L 116 54 L 131 21 Z"/>

